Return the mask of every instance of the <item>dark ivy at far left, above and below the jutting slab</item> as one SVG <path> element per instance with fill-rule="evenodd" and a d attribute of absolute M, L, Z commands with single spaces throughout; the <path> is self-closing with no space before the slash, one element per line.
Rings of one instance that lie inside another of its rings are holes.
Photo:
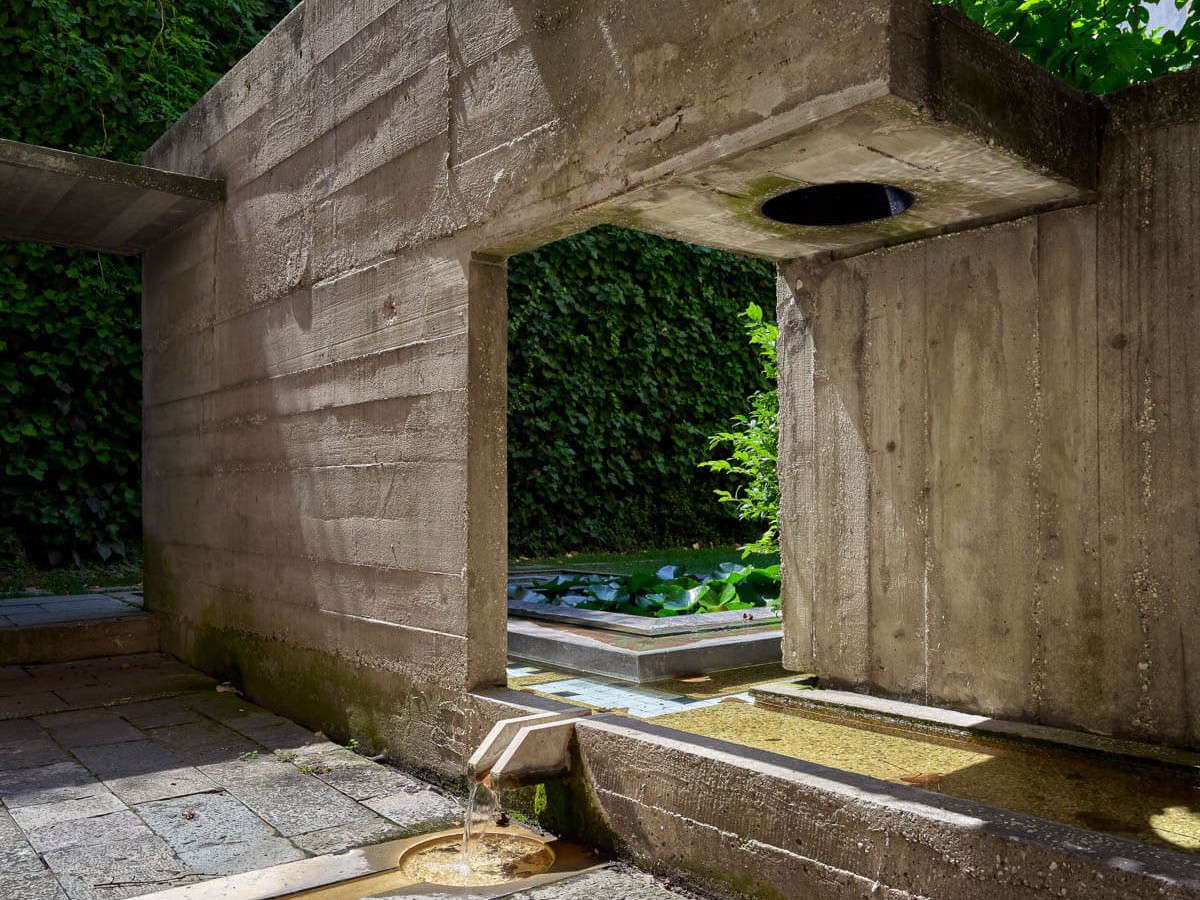
<path fill-rule="evenodd" d="M 137 162 L 295 0 L 5 0 L 0 138 Z M 0 562 L 140 532 L 137 260 L 0 245 Z"/>

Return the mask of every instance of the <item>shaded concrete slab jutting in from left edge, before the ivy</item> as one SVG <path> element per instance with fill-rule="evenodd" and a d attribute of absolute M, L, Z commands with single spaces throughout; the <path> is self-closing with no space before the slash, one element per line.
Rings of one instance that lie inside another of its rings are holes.
<path fill-rule="evenodd" d="M 221 181 L 0 140 L 0 240 L 140 253 L 223 199 Z"/>

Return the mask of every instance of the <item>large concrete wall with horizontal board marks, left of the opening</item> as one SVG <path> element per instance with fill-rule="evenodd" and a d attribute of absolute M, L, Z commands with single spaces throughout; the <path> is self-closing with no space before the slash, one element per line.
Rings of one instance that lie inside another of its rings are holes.
<path fill-rule="evenodd" d="M 145 156 L 228 196 L 144 262 L 146 598 L 169 650 L 461 772 L 464 692 L 504 678 L 504 254 L 776 116 L 886 94 L 898 18 L 883 0 L 293 11 Z"/>

